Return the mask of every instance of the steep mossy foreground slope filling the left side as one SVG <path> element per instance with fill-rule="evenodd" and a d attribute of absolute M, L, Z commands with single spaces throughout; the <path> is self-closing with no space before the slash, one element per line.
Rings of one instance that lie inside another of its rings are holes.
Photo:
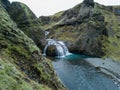
<path fill-rule="evenodd" d="M 50 60 L 20 30 L 0 1 L 0 90 L 66 90 Z"/>

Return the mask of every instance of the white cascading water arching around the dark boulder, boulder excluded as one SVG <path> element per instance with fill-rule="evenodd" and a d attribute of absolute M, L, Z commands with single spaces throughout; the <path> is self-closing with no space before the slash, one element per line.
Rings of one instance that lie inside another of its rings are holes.
<path fill-rule="evenodd" d="M 47 39 L 47 44 L 44 48 L 44 55 L 46 55 L 46 50 L 49 46 L 54 45 L 55 49 L 56 49 L 56 56 L 58 58 L 60 57 L 65 57 L 66 55 L 69 55 L 69 51 L 67 49 L 67 47 L 65 46 L 65 44 L 62 41 L 56 41 L 53 39 Z"/>

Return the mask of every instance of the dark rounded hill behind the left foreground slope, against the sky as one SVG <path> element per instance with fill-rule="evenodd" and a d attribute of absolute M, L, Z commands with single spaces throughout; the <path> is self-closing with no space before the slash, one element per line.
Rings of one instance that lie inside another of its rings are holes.
<path fill-rule="evenodd" d="M 45 44 L 45 32 L 40 28 L 40 22 L 35 14 L 20 2 L 13 2 L 7 11 L 17 26 L 42 49 Z"/>

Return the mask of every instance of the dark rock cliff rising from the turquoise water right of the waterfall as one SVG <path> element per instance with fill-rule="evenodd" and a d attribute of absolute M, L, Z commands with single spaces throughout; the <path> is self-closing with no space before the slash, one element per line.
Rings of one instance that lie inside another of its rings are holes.
<path fill-rule="evenodd" d="M 79 52 L 98 57 L 105 54 L 102 50 L 103 43 L 105 42 L 104 36 L 107 36 L 105 23 L 95 23 L 94 21 L 88 22 L 81 28 L 80 33 L 80 36 L 72 47 L 73 52 Z"/>

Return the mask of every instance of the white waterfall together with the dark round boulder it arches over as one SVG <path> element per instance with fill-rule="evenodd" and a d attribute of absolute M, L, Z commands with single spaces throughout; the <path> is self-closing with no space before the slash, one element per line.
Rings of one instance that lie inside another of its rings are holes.
<path fill-rule="evenodd" d="M 62 41 L 47 39 L 47 44 L 44 48 L 44 55 L 53 57 L 65 57 L 69 55 L 69 51 Z"/>

